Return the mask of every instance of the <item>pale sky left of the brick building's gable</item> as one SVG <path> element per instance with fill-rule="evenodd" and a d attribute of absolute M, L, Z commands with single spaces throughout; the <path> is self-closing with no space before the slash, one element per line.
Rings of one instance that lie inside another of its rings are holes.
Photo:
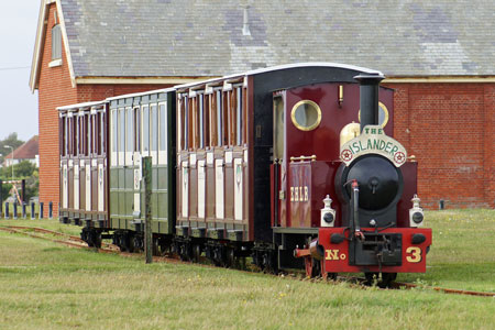
<path fill-rule="evenodd" d="M 37 134 L 37 91 L 30 90 L 41 0 L 2 0 L 0 10 L 0 140 Z"/>

